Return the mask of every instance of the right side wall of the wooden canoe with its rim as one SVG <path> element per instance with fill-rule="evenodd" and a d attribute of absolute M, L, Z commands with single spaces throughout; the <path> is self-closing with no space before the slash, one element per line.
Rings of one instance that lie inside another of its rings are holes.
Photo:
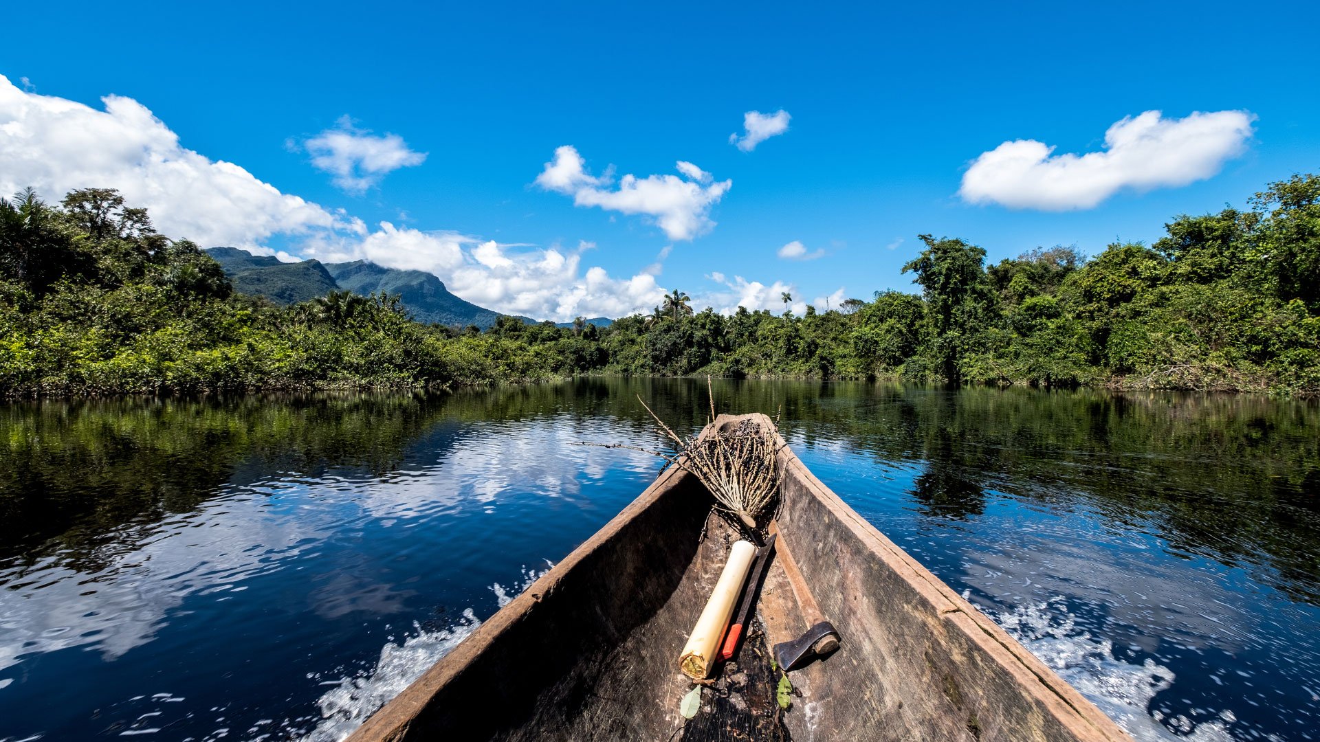
<path fill-rule="evenodd" d="M 793 673 L 813 704 L 789 714 L 795 739 L 1130 739 L 791 450 L 780 457 L 780 532 L 843 640 Z M 801 632 L 787 577 L 772 574 L 762 606 L 771 642 Z"/>

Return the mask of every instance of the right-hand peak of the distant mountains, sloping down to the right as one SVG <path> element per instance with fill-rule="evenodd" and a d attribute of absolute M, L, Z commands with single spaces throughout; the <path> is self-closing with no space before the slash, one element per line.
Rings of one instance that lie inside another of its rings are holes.
<path fill-rule="evenodd" d="M 412 312 L 413 318 L 418 322 L 477 325 L 484 330 L 494 325 L 500 316 L 499 312 L 477 306 L 449 293 L 444 281 L 424 271 L 381 268 L 366 260 L 327 263 L 326 271 L 334 276 L 341 288 L 354 293 L 363 296 L 372 292 L 399 294 L 404 306 Z"/>

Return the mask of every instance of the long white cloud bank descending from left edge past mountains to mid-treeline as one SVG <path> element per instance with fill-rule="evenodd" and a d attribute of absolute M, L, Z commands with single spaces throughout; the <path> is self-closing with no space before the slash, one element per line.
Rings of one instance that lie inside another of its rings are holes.
<path fill-rule="evenodd" d="M 620 279 L 602 268 L 582 271 L 589 243 L 516 251 L 520 246 L 453 231 L 389 222 L 368 227 L 343 210 L 281 193 L 232 162 L 183 148 L 136 100 L 108 95 L 98 111 L 36 95 L 0 77 L 0 194 L 30 185 L 57 199 L 78 187 L 115 187 L 129 203 L 145 206 L 162 234 L 202 247 L 234 246 L 286 261 L 370 260 L 426 271 L 475 304 L 537 320 L 622 317 L 649 309 L 665 293 L 656 285 L 659 269 Z M 558 182 L 591 181 L 570 176 Z M 272 248 L 272 238 L 285 244 Z"/>

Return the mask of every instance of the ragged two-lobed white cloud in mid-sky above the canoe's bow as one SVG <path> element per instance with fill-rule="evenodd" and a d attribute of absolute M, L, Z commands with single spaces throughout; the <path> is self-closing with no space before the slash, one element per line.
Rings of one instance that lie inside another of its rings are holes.
<path fill-rule="evenodd" d="M 578 151 L 564 145 L 554 151 L 536 185 L 572 195 L 577 206 L 649 217 L 669 239 L 690 240 L 715 226 L 710 209 L 733 187 L 733 181 L 717 182 L 692 162 L 678 161 L 676 168 L 682 177 L 627 174 L 614 186 L 609 172 L 591 176 Z"/>

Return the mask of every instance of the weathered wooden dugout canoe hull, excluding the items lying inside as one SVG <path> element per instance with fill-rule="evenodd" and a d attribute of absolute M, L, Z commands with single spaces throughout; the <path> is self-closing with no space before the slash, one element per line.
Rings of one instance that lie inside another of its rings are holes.
<path fill-rule="evenodd" d="M 762 415 L 751 417 L 772 425 Z M 721 416 L 715 425 L 738 420 Z M 717 734 L 709 725 L 692 734 L 692 722 L 678 713 L 692 688 L 678 672 L 678 654 L 731 533 L 696 477 L 671 467 L 368 718 L 350 742 L 1130 739 L 863 520 L 787 446 L 779 463 L 779 539 L 787 540 L 820 609 L 838 627 L 842 647 L 791 673 L 796 692 L 787 712 L 772 692 L 762 698 L 748 691 L 733 705 L 727 693 L 706 693 L 744 716 L 774 714 L 787 734 L 733 722 Z M 805 626 L 797 611 L 776 558 L 756 606 L 760 644 L 744 647 L 735 661 L 800 635 Z M 711 705 L 704 702 L 702 713 Z"/>

